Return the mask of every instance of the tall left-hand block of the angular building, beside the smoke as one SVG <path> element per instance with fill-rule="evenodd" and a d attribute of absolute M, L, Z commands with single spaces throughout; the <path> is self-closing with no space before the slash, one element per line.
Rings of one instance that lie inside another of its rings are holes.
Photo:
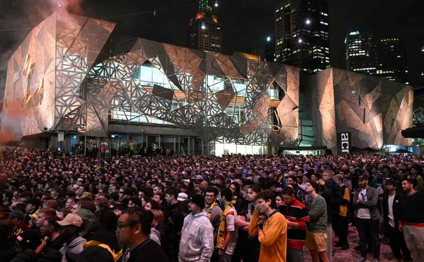
<path fill-rule="evenodd" d="M 2 129 L 11 128 L 17 138 L 85 129 L 81 87 L 114 27 L 58 13 L 35 26 L 8 61 Z"/>

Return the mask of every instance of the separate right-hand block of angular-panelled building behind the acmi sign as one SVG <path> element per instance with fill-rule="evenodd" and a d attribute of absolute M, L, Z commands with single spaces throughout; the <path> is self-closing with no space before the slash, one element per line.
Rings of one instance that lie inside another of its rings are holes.
<path fill-rule="evenodd" d="M 411 86 L 387 79 L 329 68 L 312 76 L 317 88 L 309 106 L 317 141 L 337 153 L 338 133 L 350 132 L 358 148 L 381 149 L 384 145 L 411 146 L 401 131 L 411 127 L 414 92 Z"/>

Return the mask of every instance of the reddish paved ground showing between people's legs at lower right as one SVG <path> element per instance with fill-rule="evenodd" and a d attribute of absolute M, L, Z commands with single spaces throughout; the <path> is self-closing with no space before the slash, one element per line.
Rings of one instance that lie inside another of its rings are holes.
<path fill-rule="evenodd" d="M 356 262 L 357 260 L 361 258 L 360 252 L 354 250 L 354 248 L 359 245 L 359 237 L 358 237 L 358 231 L 356 230 L 356 227 L 349 226 L 348 240 L 349 240 L 350 249 L 341 250 L 340 248 L 334 248 L 333 262 Z M 380 244 L 381 244 L 380 245 L 380 262 L 392 262 L 393 255 L 389 245 L 384 243 L 380 243 Z M 305 248 L 303 252 L 303 258 L 304 258 L 304 262 L 312 261 L 311 256 L 309 254 L 309 250 L 307 248 Z M 367 260 L 370 262 L 373 261 L 373 255 L 368 254 Z"/>

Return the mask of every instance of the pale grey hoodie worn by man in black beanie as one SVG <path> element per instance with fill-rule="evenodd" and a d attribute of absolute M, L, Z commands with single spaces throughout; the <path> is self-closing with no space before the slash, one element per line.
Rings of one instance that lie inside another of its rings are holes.
<path fill-rule="evenodd" d="M 181 231 L 180 262 L 209 262 L 213 253 L 213 227 L 202 211 L 188 215 Z"/>

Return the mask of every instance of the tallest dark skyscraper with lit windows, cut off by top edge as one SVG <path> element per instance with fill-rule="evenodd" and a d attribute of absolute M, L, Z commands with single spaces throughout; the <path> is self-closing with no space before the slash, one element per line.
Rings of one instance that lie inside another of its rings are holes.
<path fill-rule="evenodd" d="M 327 0 L 283 0 L 277 6 L 275 58 L 308 73 L 330 67 Z"/>

